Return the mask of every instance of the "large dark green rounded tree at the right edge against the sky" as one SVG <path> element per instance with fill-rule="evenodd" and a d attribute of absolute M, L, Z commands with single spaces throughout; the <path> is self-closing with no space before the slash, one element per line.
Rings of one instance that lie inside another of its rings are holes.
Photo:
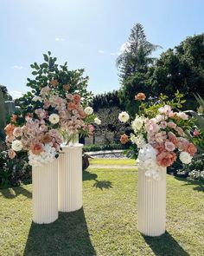
<path fill-rule="evenodd" d="M 152 91 L 173 97 L 176 90 L 192 98 L 204 93 L 204 34 L 189 36 L 164 52 L 154 67 Z"/>

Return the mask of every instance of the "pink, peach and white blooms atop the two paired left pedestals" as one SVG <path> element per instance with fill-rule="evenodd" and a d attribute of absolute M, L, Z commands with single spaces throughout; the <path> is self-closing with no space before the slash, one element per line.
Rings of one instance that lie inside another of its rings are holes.
<path fill-rule="evenodd" d="M 58 81 L 52 79 L 32 97 L 33 112 L 12 115 L 5 128 L 8 154 L 11 159 L 26 151 L 29 165 L 41 166 L 54 161 L 61 151 L 63 138 L 73 135 L 92 135 L 92 123 L 100 124 L 91 107 L 84 108 L 79 94 L 69 93 L 64 85 L 65 97 L 59 95 Z"/>

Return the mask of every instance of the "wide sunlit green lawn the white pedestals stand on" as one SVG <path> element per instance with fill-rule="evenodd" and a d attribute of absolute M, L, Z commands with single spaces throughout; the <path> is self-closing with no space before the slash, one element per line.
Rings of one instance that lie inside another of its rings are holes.
<path fill-rule="evenodd" d="M 167 232 L 137 232 L 137 170 L 90 169 L 84 207 L 31 221 L 31 185 L 0 190 L 0 255 L 204 255 L 204 184 L 167 177 Z"/>

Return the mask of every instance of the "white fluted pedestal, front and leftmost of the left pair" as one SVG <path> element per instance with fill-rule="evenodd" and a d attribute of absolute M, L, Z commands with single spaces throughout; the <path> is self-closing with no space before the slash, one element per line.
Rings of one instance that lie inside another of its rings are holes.
<path fill-rule="evenodd" d="M 32 168 L 33 221 L 51 223 L 58 218 L 58 161 Z"/>

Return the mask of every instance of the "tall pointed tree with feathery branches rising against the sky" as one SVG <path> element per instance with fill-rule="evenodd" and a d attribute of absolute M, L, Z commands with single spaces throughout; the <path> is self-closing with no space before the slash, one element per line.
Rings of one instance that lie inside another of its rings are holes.
<path fill-rule="evenodd" d="M 137 71 L 146 72 L 148 66 L 155 62 L 156 58 L 151 54 L 158 48 L 161 47 L 147 41 L 143 26 L 140 23 L 135 24 L 116 61 L 119 76 L 123 79 Z"/>

